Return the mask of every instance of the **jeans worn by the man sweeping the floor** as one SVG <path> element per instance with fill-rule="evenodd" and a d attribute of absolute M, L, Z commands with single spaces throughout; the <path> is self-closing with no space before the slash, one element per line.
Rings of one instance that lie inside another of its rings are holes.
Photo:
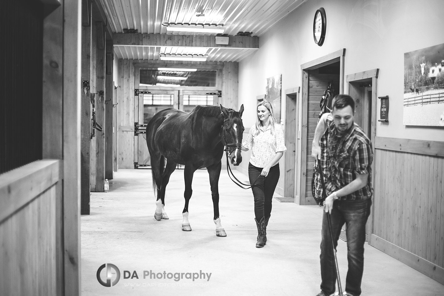
<path fill-rule="evenodd" d="M 345 291 L 355 296 L 361 295 L 362 273 L 364 272 L 365 224 L 370 215 L 371 199 L 334 201 L 330 220 L 334 247 L 341 233 L 342 225 L 347 225 L 347 259 L 349 270 L 345 281 Z M 336 267 L 327 221 L 327 213 L 322 217 L 321 241 L 321 290 L 330 295 L 336 290 Z"/>

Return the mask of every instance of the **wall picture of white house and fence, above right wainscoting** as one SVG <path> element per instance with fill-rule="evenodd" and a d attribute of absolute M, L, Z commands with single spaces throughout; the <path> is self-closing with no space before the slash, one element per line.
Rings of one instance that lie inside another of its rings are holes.
<path fill-rule="evenodd" d="M 444 43 L 404 53 L 403 123 L 444 126 Z"/>

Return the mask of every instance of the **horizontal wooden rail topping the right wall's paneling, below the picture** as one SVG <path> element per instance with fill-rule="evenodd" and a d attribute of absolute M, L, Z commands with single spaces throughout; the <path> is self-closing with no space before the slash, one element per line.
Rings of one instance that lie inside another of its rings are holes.
<path fill-rule="evenodd" d="M 375 149 L 444 157 L 444 142 L 376 137 Z"/>

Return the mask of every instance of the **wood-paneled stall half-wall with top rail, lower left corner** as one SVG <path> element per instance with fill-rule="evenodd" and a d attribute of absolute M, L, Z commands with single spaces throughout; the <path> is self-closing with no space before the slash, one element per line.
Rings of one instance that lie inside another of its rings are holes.
<path fill-rule="evenodd" d="M 0 176 L 0 295 L 63 291 L 61 163 L 40 160 Z"/>

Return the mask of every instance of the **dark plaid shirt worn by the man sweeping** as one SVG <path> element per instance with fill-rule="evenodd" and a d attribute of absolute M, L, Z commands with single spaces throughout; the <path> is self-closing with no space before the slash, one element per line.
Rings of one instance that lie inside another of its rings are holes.
<path fill-rule="evenodd" d="M 357 174 L 369 174 L 367 184 L 342 200 L 363 200 L 373 195 L 372 142 L 356 123 L 345 133 L 339 134 L 335 124 L 329 126 L 328 134 L 329 172 L 327 193 L 341 189 L 356 179 Z"/>

